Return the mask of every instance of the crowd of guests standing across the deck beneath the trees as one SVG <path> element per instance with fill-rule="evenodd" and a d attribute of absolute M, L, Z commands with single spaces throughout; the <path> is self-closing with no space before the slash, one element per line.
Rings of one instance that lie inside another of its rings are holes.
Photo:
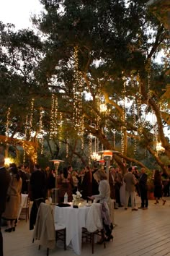
<path fill-rule="evenodd" d="M 170 170 L 170 166 L 168 166 Z M 160 171 L 153 171 L 153 185 L 155 204 L 161 199 L 165 205 L 164 196 L 169 196 L 169 170 L 167 174 Z M 108 179 L 107 179 L 108 178 Z M 4 156 L 0 155 L 0 219 L 6 220 L 6 232 L 16 229 L 17 214 L 21 203 L 21 193 L 27 193 L 30 200 L 43 200 L 52 196 L 52 189 L 58 184 L 58 202 L 64 202 L 64 195 L 67 193 L 68 202 L 72 201 L 72 195 L 79 190 L 84 200 L 94 202 L 115 201 L 115 209 L 125 210 L 131 206 L 132 210 L 138 210 L 136 205 L 136 194 L 140 196 L 141 205 L 139 209 L 148 209 L 148 174 L 146 169 L 129 167 L 123 176 L 119 167 L 111 166 L 107 177 L 104 169 L 94 163 L 94 166 L 85 166 L 81 171 L 73 170 L 72 166 L 63 167 L 57 176 L 55 169 L 47 166 L 45 169 L 35 164 L 32 173 L 28 166 L 17 166 L 12 163 L 9 170 L 4 167 Z M 121 189 L 124 187 L 125 198 L 121 202 Z M 5 207 L 6 205 L 6 207 Z M 110 236 L 112 237 L 112 236 Z M 109 238 L 108 238 L 109 239 Z M 108 240 L 109 241 L 109 240 Z M 0 255 L 2 255 L 2 235 L 0 232 Z"/>

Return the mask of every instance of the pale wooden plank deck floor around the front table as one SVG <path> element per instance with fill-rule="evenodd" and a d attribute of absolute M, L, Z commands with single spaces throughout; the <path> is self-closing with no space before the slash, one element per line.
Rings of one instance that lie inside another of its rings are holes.
<path fill-rule="evenodd" d="M 140 198 L 138 198 L 140 206 Z M 115 223 L 113 242 L 107 242 L 107 247 L 95 244 L 94 255 L 97 256 L 164 256 L 170 255 L 170 198 L 166 197 L 166 205 L 161 201 L 154 205 L 149 201 L 148 210 L 132 211 L 130 208 L 115 210 Z M 32 244 L 32 231 L 29 223 L 19 221 L 17 230 L 4 236 L 4 256 L 43 256 L 46 249 L 37 249 L 37 242 Z M 72 256 L 72 249 L 55 247 L 50 255 Z M 83 244 L 81 255 L 91 255 L 91 245 Z"/>

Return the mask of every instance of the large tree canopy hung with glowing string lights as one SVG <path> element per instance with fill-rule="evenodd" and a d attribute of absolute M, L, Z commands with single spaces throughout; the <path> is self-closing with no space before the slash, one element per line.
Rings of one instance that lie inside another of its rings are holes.
<path fill-rule="evenodd" d="M 146 0 L 40 2 L 36 32 L 0 24 L 1 134 L 10 107 L 10 136 L 41 133 L 81 161 L 97 138 L 98 149 L 120 150 L 122 168 L 122 159 L 143 166 L 142 148 L 165 171 L 156 143 L 169 157 L 169 62 L 154 59 L 169 53 L 169 34 Z"/>

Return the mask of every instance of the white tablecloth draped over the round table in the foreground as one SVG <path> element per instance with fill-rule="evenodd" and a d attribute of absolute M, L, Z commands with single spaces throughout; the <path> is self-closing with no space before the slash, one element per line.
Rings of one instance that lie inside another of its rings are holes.
<path fill-rule="evenodd" d="M 86 216 L 89 207 L 73 208 L 64 207 L 60 208 L 55 206 L 55 222 L 61 223 L 66 226 L 66 245 L 71 244 L 73 251 L 81 254 L 81 235 L 82 228 L 86 226 Z"/>

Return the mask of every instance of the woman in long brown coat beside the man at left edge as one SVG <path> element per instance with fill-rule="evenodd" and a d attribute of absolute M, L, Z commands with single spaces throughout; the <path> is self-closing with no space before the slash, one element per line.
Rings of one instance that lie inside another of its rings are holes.
<path fill-rule="evenodd" d="M 6 209 L 2 218 L 6 219 L 7 229 L 5 232 L 15 231 L 15 221 L 17 220 L 19 205 L 21 203 L 22 179 L 20 178 L 17 166 L 12 166 L 11 182 L 7 191 Z"/>

